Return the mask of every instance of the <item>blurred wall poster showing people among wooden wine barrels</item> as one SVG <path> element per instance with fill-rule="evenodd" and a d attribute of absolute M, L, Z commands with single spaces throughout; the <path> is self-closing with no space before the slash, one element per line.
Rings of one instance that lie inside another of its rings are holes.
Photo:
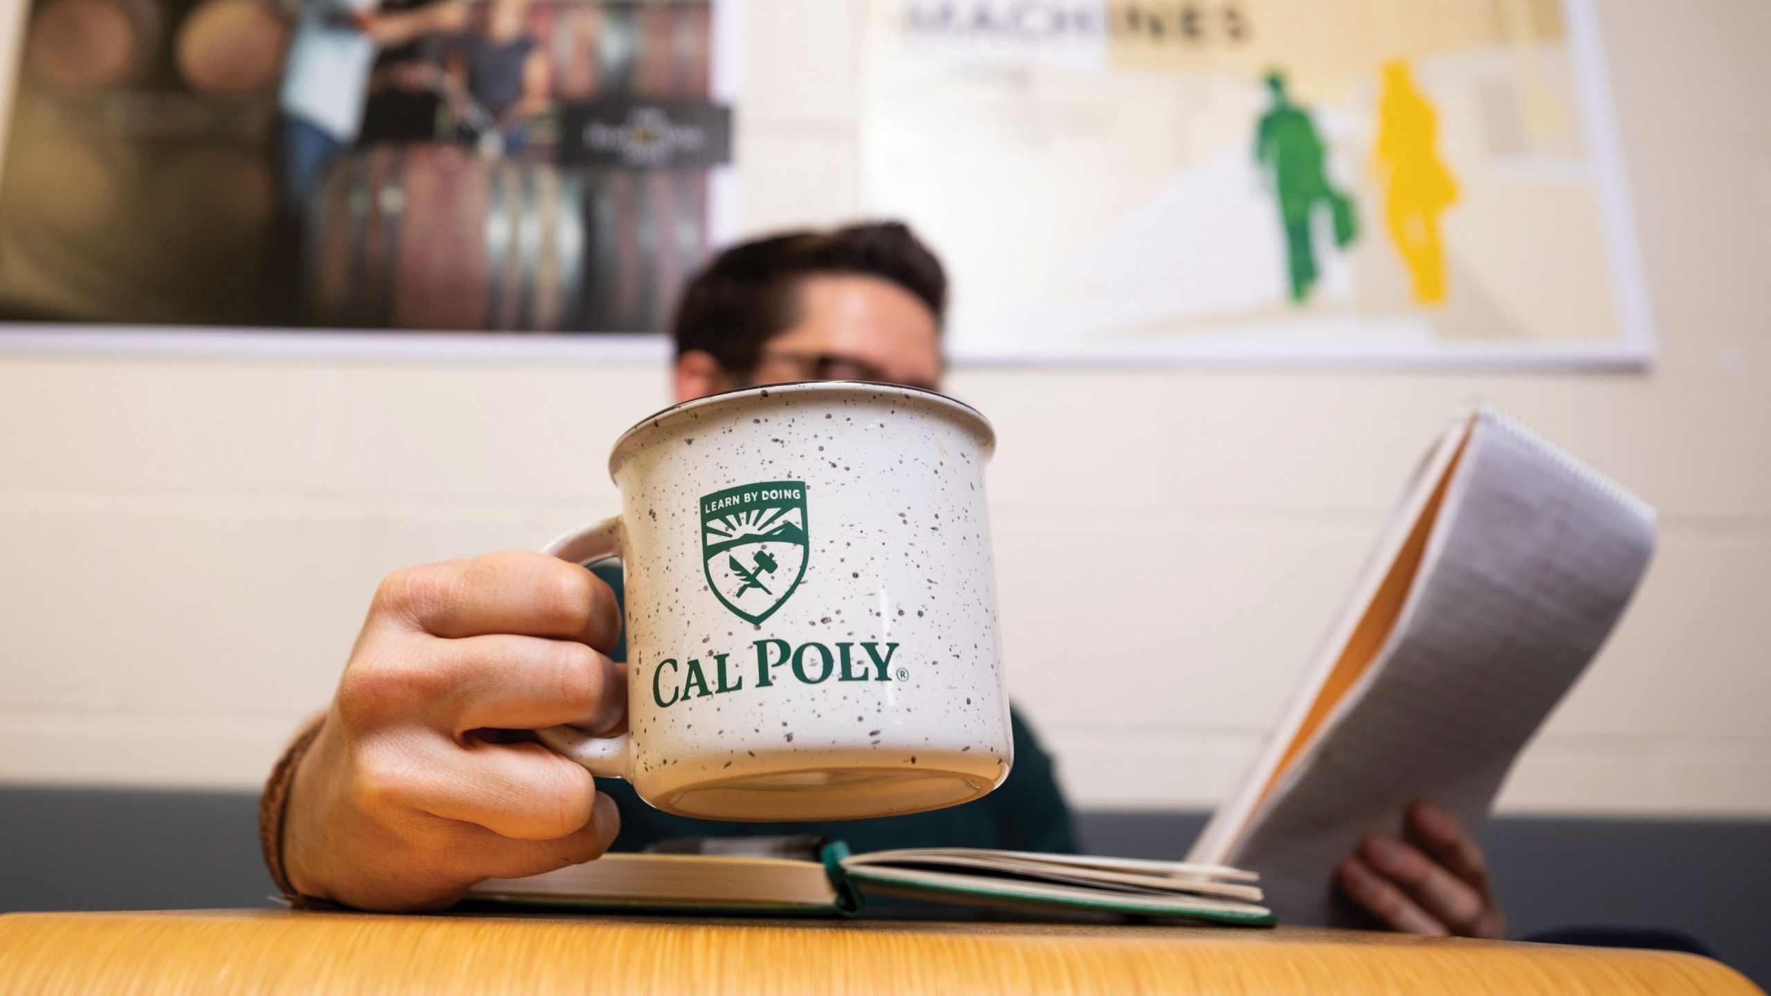
<path fill-rule="evenodd" d="M 0 12 L 0 347 L 655 346 L 733 236 L 737 0 Z"/>

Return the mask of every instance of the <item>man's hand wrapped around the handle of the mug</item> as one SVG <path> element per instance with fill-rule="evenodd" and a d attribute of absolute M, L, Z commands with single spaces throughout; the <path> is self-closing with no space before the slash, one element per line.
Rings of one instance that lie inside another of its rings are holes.
<path fill-rule="evenodd" d="M 604 656 L 620 624 L 607 585 L 540 553 L 390 574 L 289 792 L 296 891 L 429 909 L 480 879 L 602 854 L 615 801 L 577 764 L 499 730 L 622 728 L 627 686 Z"/>

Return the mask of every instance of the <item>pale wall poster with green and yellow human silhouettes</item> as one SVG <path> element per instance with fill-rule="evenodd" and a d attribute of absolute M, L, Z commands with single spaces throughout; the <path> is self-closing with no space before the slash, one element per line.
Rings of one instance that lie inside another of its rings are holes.
<path fill-rule="evenodd" d="M 1640 367 L 1590 0 L 870 0 L 866 207 L 992 362 Z"/>

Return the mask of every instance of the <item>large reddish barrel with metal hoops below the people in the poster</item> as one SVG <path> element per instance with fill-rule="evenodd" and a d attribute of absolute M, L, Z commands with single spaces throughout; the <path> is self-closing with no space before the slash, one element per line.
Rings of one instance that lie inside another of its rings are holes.
<path fill-rule="evenodd" d="M 310 211 L 315 317 L 361 328 L 574 328 L 579 183 L 545 163 L 439 144 L 340 161 Z"/>

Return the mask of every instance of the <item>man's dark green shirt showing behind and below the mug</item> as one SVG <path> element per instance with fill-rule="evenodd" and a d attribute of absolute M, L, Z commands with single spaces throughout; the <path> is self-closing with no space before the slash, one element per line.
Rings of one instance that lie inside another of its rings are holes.
<path fill-rule="evenodd" d="M 623 597 L 622 571 L 602 562 L 592 571 Z M 609 654 L 627 659 L 627 636 Z M 1052 774 L 1052 759 L 1040 750 L 1027 723 L 1009 709 L 1015 734 L 1015 766 L 1008 780 L 981 799 L 903 817 L 831 821 L 831 822 L 724 822 L 678 817 L 655 810 L 634 794 L 632 785 L 613 778 L 597 789 L 622 810 L 622 833 L 611 851 L 645 851 L 646 845 L 673 836 L 758 836 L 816 833 L 848 842 L 854 851 L 891 847 L 997 847 L 1002 851 L 1047 851 L 1075 854 L 1077 838 L 1070 824 L 1070 806 Z"/>

